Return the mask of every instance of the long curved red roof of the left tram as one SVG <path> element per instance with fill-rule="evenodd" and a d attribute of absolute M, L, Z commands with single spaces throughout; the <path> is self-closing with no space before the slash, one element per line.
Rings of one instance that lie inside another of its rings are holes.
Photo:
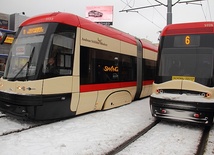
<path fill-rule="evenodd" d="M 76 27 L 80 27 L 92 32 L 96 32 L 111 38 L 115 38 L 115 39 L 136 45 L 135 37 L 132 35 L 129 35 L 128 33 L 125 33 L 101 24 L 94 23 L 92 21 L 89 21 L 85 18 L 79 17 L 71 13 L 53 12 L 53 13 L 38 15 L 27 19 L 25 22 L 21 24 L 21 26 L 37 24 L 37 23 L 46 23 L 46 22 L 59 22 L 59 23 L 64 23 L 68 25 L 73 25 Z M 145 45 L 143 44 L 143 47 L 150 49 L 152 51 L 157 50 L 154 45 L 152 44 L 150 45 L 149 43 L 145 43 Z"/>

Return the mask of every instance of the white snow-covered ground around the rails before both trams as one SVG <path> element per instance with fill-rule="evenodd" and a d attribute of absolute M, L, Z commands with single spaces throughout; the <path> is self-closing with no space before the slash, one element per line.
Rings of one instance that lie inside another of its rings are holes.
<path fill-rule="evenodd" d="M 103 155 L 153 121 L 147 98 L 120 108 L 1 136 L 0 154 Z M 13 126 L 10 121 L 1 121 L 0 131 L 11 128 L 10 125 Z M 206 155 L 214 153 L 213 130 L 212 128 Z M 164 122 L 118 154 L 191 155 L 194 154 L 200 135 L 201 130 L 197 126 Z"/>

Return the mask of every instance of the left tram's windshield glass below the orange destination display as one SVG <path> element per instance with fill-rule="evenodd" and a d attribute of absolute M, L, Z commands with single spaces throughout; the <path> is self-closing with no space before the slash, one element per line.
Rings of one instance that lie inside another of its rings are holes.
<path fill-rule="evenodd" d="M 35 75 L 43 39 L 43 35 L 17 38 L 10 50 L 4 78 L 26 80 Z"/>

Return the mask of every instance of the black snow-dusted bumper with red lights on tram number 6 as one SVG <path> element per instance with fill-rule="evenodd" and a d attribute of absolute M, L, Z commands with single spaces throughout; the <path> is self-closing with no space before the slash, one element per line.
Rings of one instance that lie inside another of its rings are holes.
<path fill-rule="evenodd" d="M 212 124 L 214 103 L 184 102 L 150 97 L 151 113 L 160 119 Z"/>

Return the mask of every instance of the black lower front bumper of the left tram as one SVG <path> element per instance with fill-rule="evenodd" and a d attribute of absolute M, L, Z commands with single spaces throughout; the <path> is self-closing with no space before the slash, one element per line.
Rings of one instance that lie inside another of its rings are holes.
<path fill-rule="evenodd" d="M 0 91 L 0 111 L 32 120 L 60 119 L 76 115 L 70 110 L 71 93 L 21 95 Z"/>

